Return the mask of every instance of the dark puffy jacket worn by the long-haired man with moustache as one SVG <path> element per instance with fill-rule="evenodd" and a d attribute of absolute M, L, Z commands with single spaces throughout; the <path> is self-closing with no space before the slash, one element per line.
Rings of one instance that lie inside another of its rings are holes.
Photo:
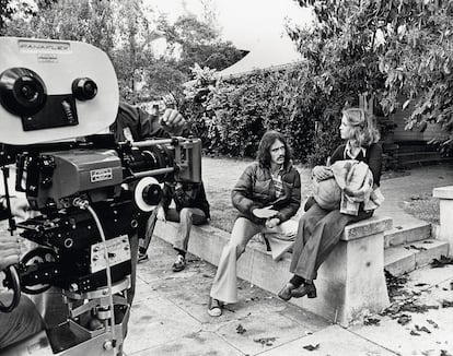
<path fill-rule="evenodd" d="M 252 211 L 272 205 L 278 211 L 276 217 L 280 223 L 291 218 L 301 205 L 301 178 L 299 171 L 288 165 L 283 168 L 281 180 L 283 194 L 277 199 L 269 168 L 262 168 L 257 162 L 245 168 L 231 192 L 233 205 L 240 211 L 240 216 L 257 224 L 264 223 L 265 219 L 256 217 Z"/>

